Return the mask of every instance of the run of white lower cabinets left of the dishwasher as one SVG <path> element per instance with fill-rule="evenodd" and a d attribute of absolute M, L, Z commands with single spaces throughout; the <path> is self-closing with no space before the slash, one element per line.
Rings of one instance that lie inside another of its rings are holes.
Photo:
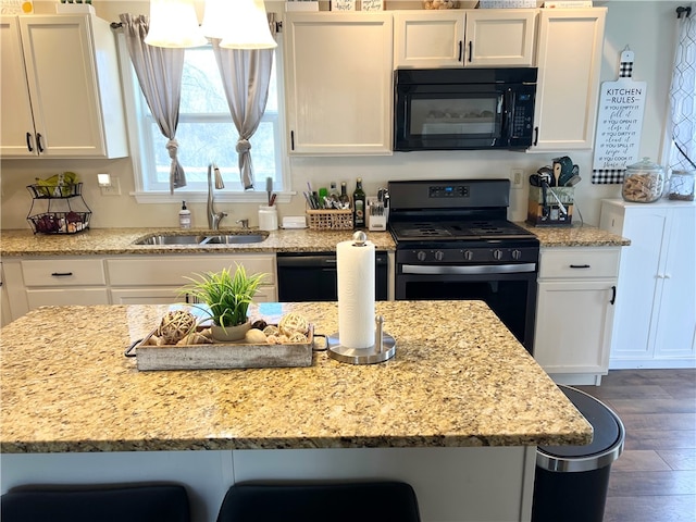
<path fill-rule="evenodd" d="M 217 256 L 41 257 L 2 260 L 2 320 L 45 306 L 184 302 L 186 277 L 244 265 L 265 273 L 257 302 L 277 301 L 274 253 Z M 5 306 L 5 300 L 8 304 Z"/>

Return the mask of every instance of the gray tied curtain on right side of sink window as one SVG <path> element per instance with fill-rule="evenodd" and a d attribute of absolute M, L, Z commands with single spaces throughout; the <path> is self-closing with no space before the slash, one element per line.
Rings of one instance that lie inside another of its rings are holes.
<path fill-rule="evenodd" d="M 269 98 L 269 83 L 273 66 L 273 49 L 223 49 L 220 39 L 211 38 L 220 69 L 232 121 L 237 127 L 239 176 L 245 190 L 253 189 L 251 144 Z"/>

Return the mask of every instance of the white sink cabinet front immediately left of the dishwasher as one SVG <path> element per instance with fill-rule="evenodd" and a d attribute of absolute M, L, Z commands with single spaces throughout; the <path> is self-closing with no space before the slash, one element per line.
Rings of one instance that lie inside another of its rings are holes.
<path fill-rule="evenodd" d="M 248 274 L 268 274 L 254 300 L 276 301 L 275 254 L 235 256 L 134 256 L 107 260 L 111 301 L 114 304 L 167 304 L 184 302 L 179 288 L 195 274 L 235 270 L 243 265 Z"/>

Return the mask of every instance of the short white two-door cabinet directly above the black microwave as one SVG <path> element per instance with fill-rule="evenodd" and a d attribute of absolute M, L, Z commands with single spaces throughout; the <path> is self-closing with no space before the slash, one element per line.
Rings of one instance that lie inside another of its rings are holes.
<path fill-rule="evenodd" d="M 532 66 L 537 14 L 536 9 L 396 12 L 395 66 Z"/>

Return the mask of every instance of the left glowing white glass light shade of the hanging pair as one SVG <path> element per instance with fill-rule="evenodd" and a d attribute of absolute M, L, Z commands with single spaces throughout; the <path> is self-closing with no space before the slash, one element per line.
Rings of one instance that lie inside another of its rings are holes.
<path fill-rule="evenodd" d="M 150 0 L 150 28 L 145 42 L 154 47 L 200 47 L 208 44 L 191 0 Z"/>

